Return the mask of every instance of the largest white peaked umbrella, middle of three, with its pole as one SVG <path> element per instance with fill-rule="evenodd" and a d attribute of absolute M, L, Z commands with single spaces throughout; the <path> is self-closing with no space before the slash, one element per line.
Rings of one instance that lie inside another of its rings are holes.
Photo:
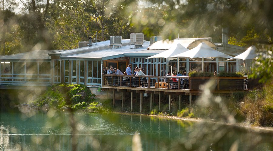
<path fill-rule="evenodd" d="M 221 58 L 235 59 L 232 56 L 229 56 L 227 54 L 224 54 L 217 50 L 212 49 L 206 43 L 200 43 L 197 47 L 191 49 L 190 51 L 180 53 L 170 57 L 181 57 L 181 58 L 189 58 L 189 59 L 202 58 L 202 71 L 204 71 L 204 58 L 214 59 L 217 57 L 221 57 Z"/>

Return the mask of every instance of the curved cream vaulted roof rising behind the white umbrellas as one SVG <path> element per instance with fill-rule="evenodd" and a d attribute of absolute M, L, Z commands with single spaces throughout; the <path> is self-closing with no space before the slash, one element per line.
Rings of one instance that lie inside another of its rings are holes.
<path fill-rule="evenodd" d="M 171 46 L 180 43 L 185 48 L 194 48 L 197 47 L 200 43 L 206 43 L 208 46 L 214 48 L 216 47 L 214 43 L 212 43 L 211 38 L 181 38 L 174 40 L 160 40 L 153 43 L 149 49 L 150 50 L 168 50 Z"/>

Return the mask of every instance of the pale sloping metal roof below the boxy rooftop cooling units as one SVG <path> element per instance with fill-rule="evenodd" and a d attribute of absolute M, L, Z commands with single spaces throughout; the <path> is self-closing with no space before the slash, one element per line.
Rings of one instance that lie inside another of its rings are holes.
<path fill-rule="evenodd" d="M 68 55 L 68 56 L 62 56 L 61 58 L 62 59 L 99 59 L 99 60 L 102 59 L 102 60 L 107 60 L 107 59 L 124 57 L 125 56 L 124 54 L 126 54 L 126 53 L 147 50 L 147 48 L 149 47 L 149 44 L 150 44 L 149 41 L 144 41 L 142 47 L 135 48 L 135 49 L 130 49 L 131 48 L 130 45 L 123 46 L 120 48 L 115 48 L 115 49 L 110 49 L 110 47 L 107 46 L 108 49 L 93 50 L 91 52 L 80 53 L 80 54 L 72 54 L 72 55 Z"/>

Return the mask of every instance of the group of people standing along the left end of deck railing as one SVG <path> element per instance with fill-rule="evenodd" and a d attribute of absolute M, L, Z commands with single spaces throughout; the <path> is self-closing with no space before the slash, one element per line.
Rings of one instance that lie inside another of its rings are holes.
<path fill-rule="evenodd" d="M 109 69 L 110 68 L 110 69 Z M 126 68 L 126 71 L 124 73 L 122 73 L 119 69 L 113 68 L 113 66 L 109 66 L 108 67 L 103 67 L 103 73 L 104 75 L 132 75 L 132 76 L 145 76 L 144 74 L 144 69 L 143 67 L 135 67 L 133 68 L 133 71 L 131 70 L 131 64 L 128 65 L 128 67 Z M 128 83 L 128 86 L 130 85 L 130 79 L 129 77 L 123 76 L 122 81 L 119 80 L 119 78 L 117 76 L 108 76 L 106 77 L 108 85 L 112 85 L 112 78 L 113 78 L 113 86 L 117 86 L 119 85 L 119 83 L 121 82 L 121 85 L 126 85 Z M 141 83 L 143 84 L 143 87 L 148 87 L 148 82 L 146 78 L 140 78 L 141 79 Z M 136 77 L 132 77 L 131 79 L 132 82 L 132 86 L 138 86 L 139 83 L 139 78 Z"/>

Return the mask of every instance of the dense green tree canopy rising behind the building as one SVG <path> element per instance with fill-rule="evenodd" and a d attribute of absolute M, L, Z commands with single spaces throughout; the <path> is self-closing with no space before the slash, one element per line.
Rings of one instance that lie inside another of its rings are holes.
<path fill-rule="evenodd" d="M 272 52 L 272 5 L 271 0 L 0 0 L 0 49 L 2 54 L 31 51 L 36 44 L 72 49 L 89 36 L 127 39 L 131 32 L 143 32 L 145 40 L 179 34 L 221 42 L 228 28 L 230 44 Z M 22 10 L 15 12 L 17 7 Z"/>

